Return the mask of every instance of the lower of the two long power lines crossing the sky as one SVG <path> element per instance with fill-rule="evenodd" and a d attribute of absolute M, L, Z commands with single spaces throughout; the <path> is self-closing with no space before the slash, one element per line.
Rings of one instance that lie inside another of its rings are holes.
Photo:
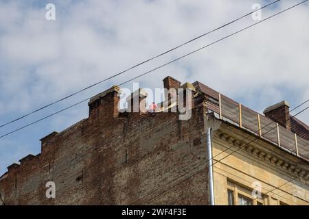
<path fill-rule="evenodd" d="M 188 55 L 191 55 L 191 54 L 193 54 L 193 53 L 196 53 L 197 51 L 201 51 L 202 49 L 205 49 L 205 48 L 211 46 L 212 44 L 216 44 L 217 42 L 220 42 L 220 41 L 222 41 L 222 40 L 225 40 L 225 39 L 227 39 L 227 38 L 229 38 L 229 37 L 231 37 L 231 36 L 233 36 L 233 35 L 235 35 L 235 34 L 240 33 L 241 31 L 244 31 L 244 30 L 246 30 L 246 29 L 249 29 L 250 27 L 253 27 L 253 26 L 255 26 L 255 25 L 258 25 L 258 24 L 260 24 L 260 23 L 262 23 L 262 22 L 264 22 L 264 21 L 267 21 L 268 19 L 273 18 L 274 16 L 277 16 L 277 15 L 279 15 L 279 14 L 282 14 L 283 12 L 286 12 L 287 10 L 290 10 L 290 9 L 292 9 L 292 8 L 295 8 L 297 5 L 300 5 L 301 3 L 305 3 L 306 1 L 308 1 L 308 0 L 301 1 L 300 3 L 297 3 L 296 5 L 293 5 L 293 6 L 289 7 L 289 8 L 286 8 L 285 10 L 282 10 L 282 11 L 280 11 L 280 12 L 277 12 L 276 14 L 273 14 L 272 16 L 268 16 L 267 18 L 264 18 L 264 19 L 262 19 L 261 21 L 258 21 L 257 23 L 254 23 L 253 25 L 249 25 L 249 26 L 247 26 L 247 27 L 244 27 L 244 28 L 242 28 L 242 29 L 240 29 L 240 30 L 238 30 L 238 31 L 236 31 L 236 32 L 233 32 L 233 34 L 229 34 L 229 35 L 227 35 L 227 36 L 225 36 L 225 37 L 223 37 L 223 38 L 220 38 L 219 40 L 216 40 L 216 41 L 214 41 L 214 42 L 211 42 L 210 44 L 207 44 L 207 45 L 205 45 L 204 47 L 200 47 L 199 49 L 196 49 L 196 50 L 194 50 L 194 51 L 192 51 L 192 52 L 190 52 L 190 53 L 187 53 L 187 54 L 185 54 L 185 55 L 182 55 L 181 57 L 178 57 L 178 58 L 176 58 L 176 59 L 174 59 L 174 60 L 172 60 L 172 61 L 170 61 L 170 62 L 167 62 L 167 63 L 165 63 L 165 64 L 163 64 L 163 65 L 161 65 L 161 66 L 158 66 L 157 68 L 152 68 L 152 70 L 148 70 L 146 73 L 142 73 L 141 75 L 137 75 L 137 77 L 133 77 L 132 79 L 129 79 L 129 80 L 127 80 L 127 81 L 124 81 L 123 83 L 120 83 L 118 86 L 121 86 L 121 85 L 123 85 L 124 83 L 128 83 L 128 82 L 130 82 L 130 81 L 133 81 L 134 79 L 137 79 L 137 78 L 142 77 L 142 76 L 144 76 L 144 75 L 148 75 L 149 73 L 152 73 L 153 71 L 155 71 L 155 70 L 157 70 L 157 69 L 159 69 L 159 68 L 163 68 L 163 66 L 167 66 L 168 64 L 171 64 L 171 63 L 173 63 L 173 62 L 176 62 L 176 61 L 178 61 L 178 60 L 181 60 L 181 59 L 183 59 L 183 57 L 187 57 Z M 82 101 L 80 101 L 80 102 L 78 102 L 78 103 L 75 103 L 75 104 L 73 104 L 73 105 L 70 105 L 69 107 L 66 107 L 65 109 L 59 110 L 59 111 L 57 111 L 57 112 L 55 112 L 55 113 L 53 113 L 53 114 L 50 114 L 50 115 L 48 115 L 48 116 L 45 116 L 45 117 L 43 117 L 43 118 L 41 118 L 41 119 L 39 119 L 39 120 L 34 121 L 33 123 L 30 123 L 30 124 L 27 124 L 27 125 L 25 125 L 25 126 L 23 126 L 23 127 L 20 127 L 19 129 L 14 129 L 13 131 L 10 131 L 9 133 L 5 133 L 3 136 L 0 136 L 0 138 L 3 138 L 3 137 L 5 137 L 5 136 L 10 135 L 11 133 L 14 133 L 14 132 L 16 132 L 16 131 L 19 131 L 19 130 L 21 130 L 21 129 L 24 129 L 25 127 L 29 127 L 30 125 L 34 125 L 35 123 L 38 123 L 38 122 L 40 122 L 41 120 L 44 120 L 45 118 L 49 118 L 49 117 L 54 116 L 54 115 L 56 115 L 56 114 L 58 114 L 58 113 L 60 113 L 60 112 L 63 112 L 63 111 L 65 111 L 65 110 L 68 110 L 68 109 L 71 108 L 71 107 L 74 107 L 74 106 L 76 106 L 76 105 L 78 105 L 78 104 L 80 104 L 80 103 L 83 103 L 83 102 L 85 102 L 85 101 L 88 101 L 90 98 L 91 98 L 91 97 L 89 97 L 89 98 L 87 98 L 87 99 L 84 99 L 84 100 L 82 100 Z"/>

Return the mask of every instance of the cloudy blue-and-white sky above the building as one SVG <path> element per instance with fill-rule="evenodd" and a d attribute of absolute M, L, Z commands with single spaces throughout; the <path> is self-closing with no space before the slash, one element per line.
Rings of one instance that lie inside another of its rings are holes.
<path fill-rule="evenodd" d="M 253 3 L 270 2 L 0 0 L 0 125 L 247 14 Z M 262 10 L 262 18 L 298 2 L 282 0 Z M 47 3 L 56 5 L 56 21 L 46 20 Z M 258 112 L 282 100 L 295 107 L 309 96 L 308 9 L 308 3 L 299 5 L 135 82 L 161 88 L 170 75 L 183 82 L 199 80 Z M 2 127 L 0 136 L 255 22 L 248 16 Z M 132 83 L 124 86 L 133 88 Z M 25 155 L 40 153 L 39 139 L 87 115 L 87 103 L 82 103 L 0 138 L 0 175 Z M 309 123 L 308 115 L 298 118 Z"/>

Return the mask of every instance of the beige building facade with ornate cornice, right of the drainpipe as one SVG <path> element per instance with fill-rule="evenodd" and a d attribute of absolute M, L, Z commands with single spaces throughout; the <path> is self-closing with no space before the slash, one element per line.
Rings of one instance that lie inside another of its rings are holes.
<path fill-rule="evenodd" d="M 238 127 L 216 123 L 220 123 L 213 137 L 216 205 L 309 204 L 308 162 L 266 140 L 251 142 L 255 136 Z"/>

